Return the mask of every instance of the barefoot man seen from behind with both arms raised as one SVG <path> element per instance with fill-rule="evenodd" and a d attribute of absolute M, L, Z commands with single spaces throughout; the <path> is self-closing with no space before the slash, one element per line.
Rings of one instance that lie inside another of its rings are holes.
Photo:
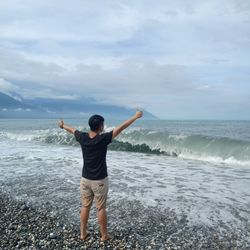
<path fill-rule="evenodd" d="M 63 120 L 58 126 L 75 135 L 80 143 L 83 156 L 82 178 L 80 182 L 81 193 L 81 215 L 80 215 L 80 239 L 87 240 L 89 233 L 87 224 L 89 211 L 95 198 L 98 222 L 101 232 L 101 241 L 111 239 L 107 231 L 106 201 L 108 194 L 108 173 L 106 164 L 107 146 L 112 139 L 118 136 L 124 129 L 131 125 L 138 118 L 142 117 L 142 111 L 137 111 L 134 116 L 123 122 L 120 126 L 110 132 L 101 133 L 104 128 L 104 118 L 100 115 L 93 115 L 89 118 L 90 131 L 80 132 L 66 124 Z"/>

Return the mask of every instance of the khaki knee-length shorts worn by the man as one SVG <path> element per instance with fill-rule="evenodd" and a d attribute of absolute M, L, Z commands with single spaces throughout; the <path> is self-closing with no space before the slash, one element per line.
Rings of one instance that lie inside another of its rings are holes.
<path fill-rule="evenodd" d="M 89 180 L 82 177 L 80 181 L 82 206 L 90 207 L 95 198 L 97 209 L 106 208 L 108 189 L 108 177 L 101 180 Z"/>

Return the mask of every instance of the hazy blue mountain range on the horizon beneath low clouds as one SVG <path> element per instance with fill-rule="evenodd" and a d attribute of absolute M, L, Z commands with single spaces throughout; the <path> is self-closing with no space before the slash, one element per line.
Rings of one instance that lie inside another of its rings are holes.
<path fill-rule="evenodd" d="M 86 118 L 92 114 L 101 114 L 107 118 L 123 119 L 135 112 L 131 108 L 100 104 L 89 97 L 76 100 L 19 99 L 20 101 L 0 92 L 0 118 Z M 157 119 L 147 111 L 144 111 L 144 118 Z"/>

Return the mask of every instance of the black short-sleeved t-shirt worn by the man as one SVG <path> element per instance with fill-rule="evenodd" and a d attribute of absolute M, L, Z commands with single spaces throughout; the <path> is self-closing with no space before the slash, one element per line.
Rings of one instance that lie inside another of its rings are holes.
<path fill-rule="evenodd" d="M 106 155 L 112 141 L 113 130 L 90 138 L 86 132 L 75 131 L 75 138 L 81 144 L 83 156 L 82 177 L 100 180 L 108 176 Z"/>

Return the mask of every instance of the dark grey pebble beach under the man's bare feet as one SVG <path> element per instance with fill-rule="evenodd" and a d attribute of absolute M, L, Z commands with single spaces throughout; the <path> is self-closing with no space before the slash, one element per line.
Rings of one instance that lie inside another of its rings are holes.
<path fill-rule="evenodd" d="M 157 211 L 140 202 L 108 206 L 112 241 L 99 241 L 97 222 L 90 220 L 90 239 L 79 239 L 79 226 L 46 205 L 38 208 L 0 192 L 0 249 L 247 249 L 240 235 L 226 225 L 190 226 L 185 215 Z M 124 207 L 126 205 L 126 208 Z M 92 217 L 95 214 L 91 215 Z"/>

